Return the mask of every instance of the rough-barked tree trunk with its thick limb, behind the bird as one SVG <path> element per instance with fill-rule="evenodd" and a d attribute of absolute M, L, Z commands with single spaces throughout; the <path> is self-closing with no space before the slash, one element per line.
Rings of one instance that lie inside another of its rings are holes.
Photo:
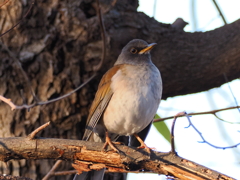
<path fill-rule="evenodd" d="M 2 1 L 0 1 L 2 2 Z M 1 7 L 0 33 L 15 25 L 31 2 L 9 1 Z M 93 73 L 102 53 L 94 1 L 36 1 L 23 22 L 1 38 L 0 94 L 15 104 L 32 103 L 27 80 L 41 101 L 61 96 Z M 153 61 L 162 73 L 163 98 L 208 90 L 240 76 L 240 20 L 206 33 L 186 33 L 137 12 L 137 0 L 101 1 L 107 32 L 107 56 L 101 72 L 79 92 L 61 101 L 12 112 L 0 103 L 0 137 L 26 136 L 52 121 L 42 137 L 79 139 L 101 75 L 131 39 L 157 42 Z M 40 179 L 53 161 L 11 161 L 0 173 Z M 70 169 L 64 164 L 61 169 Z M 69 178 L 69 177 L 68 177 Z M 59 177 L 57 179 L 60 179 Z M 66 177 L 63 177 L 66 179 Z"/>

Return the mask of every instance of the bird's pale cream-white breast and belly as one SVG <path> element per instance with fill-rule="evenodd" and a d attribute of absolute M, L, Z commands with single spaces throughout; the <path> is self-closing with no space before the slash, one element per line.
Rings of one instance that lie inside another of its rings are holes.
<path fill-rule="evenodd" d="M 113 96 L 103 115 L 106 129 L 119 135 L 143 130 L 154 118 L 162 94 L 159 70 L 153 65 L 125 65 L 111 79 Z"/>

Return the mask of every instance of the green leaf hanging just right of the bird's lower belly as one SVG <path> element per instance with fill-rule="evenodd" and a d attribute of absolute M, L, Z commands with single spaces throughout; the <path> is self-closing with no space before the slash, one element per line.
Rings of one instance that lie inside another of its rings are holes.
<path fill-rule="evenodd" d="M 154 119 L 159 119 L 160 116 L 158 114 L 155 115 Z M 153 125 L 158 130 L 158 132 L 170 143 L 170 131 L 164 121 L 154 122 Z"/>

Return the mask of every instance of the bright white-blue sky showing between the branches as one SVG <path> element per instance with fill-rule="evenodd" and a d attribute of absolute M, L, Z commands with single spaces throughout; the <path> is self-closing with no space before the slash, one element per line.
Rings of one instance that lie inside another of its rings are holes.
<path fill-rule="evenodd" d="M 217 0 L 216 2 L 227 23 L 240 18 L 239 0 Z M 142 11 L 150 17 L 154 15 L 153 9 L 154 4 L 156 4 L 154 18 L 162 23 L 171 24 L 177 18 L 183 18 L 189 23 L 184 29 L 187 32 L 204 32 L 224 25 L 212 0 L 156 0 L 156 2 L 155 0 L 139 0 L 139 4 L 138 11 Z M 195 10 L 192 10 L 192 7 L 196 7 Z M 195 14 L 196 23 L 194 23 L 192 14 Z M 166 101 L 161 101 L 158 114 L 161 117 L 168 117 L 182 111 L 188 113 L 203 112 L 236 106 L 235 99 L 237 104 L 240 104 L 239 90 L 240 80 L 237 79 L 206 92 L 168 98 Z M 224 111 L 218 115 L 229 122 L 240 122 L 240 112 L 237 109 Z M 191 120 L 204 138 L 216 146 L 224 147 L 240 143 L 240 124 L 225 123 L 213 115 L 193 116 Z M 166 124 L 170 128 L 172 120 L 167 120 Z M 187 126 L 188 121 L 185 117 L 178 118 L 175 125 L 175 143 L 178 155 L 240 179 L 240 147 L 222 150 L 213 148 L 206 143 L 200 143 L 199 141 L 202 140 L 197 132 L 192 127 L 186 128 Z M 154 127 L 151 128 L 145 142 L 149 147 L 154 147 L 158 151 L 167 152 L 170 150 L 170 144 Z M 129 173 L 128 175 L 128 180 L 145 180 L 147 178 L 164 180 L 166 176 L 150 173 Z"/>

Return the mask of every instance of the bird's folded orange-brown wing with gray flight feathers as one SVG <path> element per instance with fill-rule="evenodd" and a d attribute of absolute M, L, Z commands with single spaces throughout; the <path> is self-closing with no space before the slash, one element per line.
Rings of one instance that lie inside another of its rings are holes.
<path fill-rule="evenodd" d="M 106 109 L 113 92 L 111 90 L 111 79 L 120 69 L 122 65 L 113 66 L 109 69 L 105 75 L 102 77 L 100 84 L 98 85 L 98 91 L 95 95 L 91 108 L 89 110 L 89 115 L 86 123 L 86 129 L 83 135 L 83 140 L 87 141 L 93 132 L 93 129 L 97 125 L 99 119 L 101 118 L 104 110 Z"/>

